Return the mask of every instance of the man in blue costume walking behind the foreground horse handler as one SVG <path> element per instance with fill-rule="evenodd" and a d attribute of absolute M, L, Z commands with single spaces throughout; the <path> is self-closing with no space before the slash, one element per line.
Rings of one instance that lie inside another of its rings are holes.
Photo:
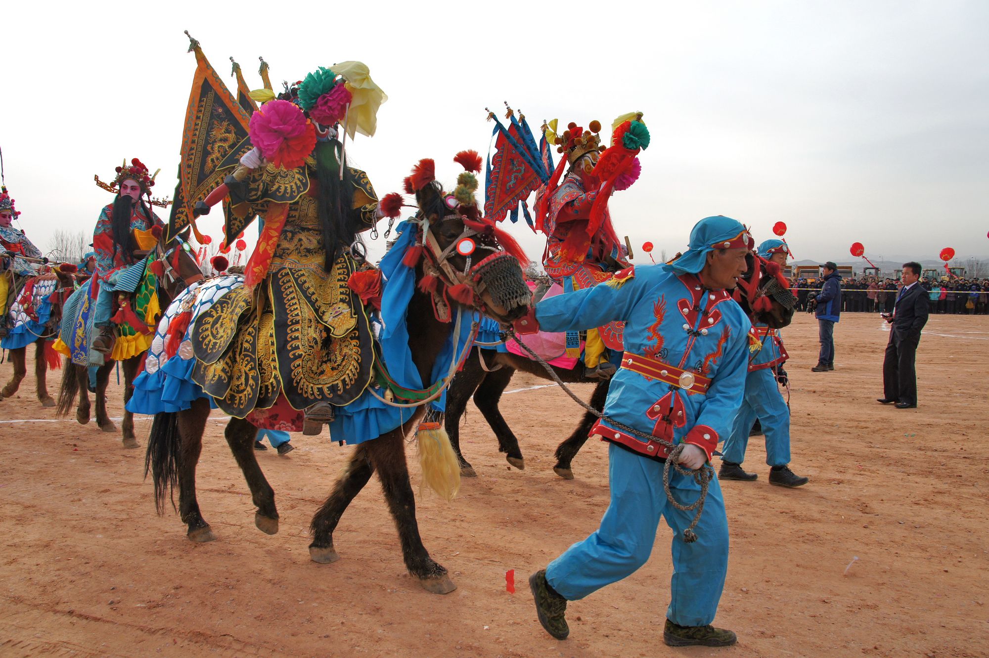
<path fill-rule="evenodd" d="M 759 255 L 768 261 L 770 270 L 781 272 L 786 267 L 789 247 L 782 240 L 766 240 L 759 245 Z M 775 264 L 773 267 L 772 264 Z M 724 454 L 718 477 L 724 480 L 751 481 L 759 477 L 742 468 L 749 431 L 753 422 L 759 421 L 765 436 L 765 463 L 770 466 L 769 484 L 781 487 L 798 487 L 808 478 L 790 470 L 790 409 L 779 392 L 779 385 L 787 384 L 783 364 L 788 358 L 778 329 L 770 329 L 762 322 L 753 327 L 762 348 L 749 357 L 749 374 L 746 377 L 745 396 L 732 433 L 725 441 Z M 778 384 L 778 385 L 777 385 Z"/>

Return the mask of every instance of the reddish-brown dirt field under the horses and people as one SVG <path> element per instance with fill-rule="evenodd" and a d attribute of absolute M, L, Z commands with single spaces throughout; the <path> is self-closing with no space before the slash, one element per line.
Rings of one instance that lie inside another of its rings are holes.
<path fill-rule="evenodd" d="M 811 481 L 769 486 L 754 439 L 746 465 L 760 479 L 723 484 L 732 548 L 715 622 L 738 632 L 732 649 L 663 644 L 666 525 L 644 568 L 570 605 L 570 639 L 540 627 L 526 578 L 594 530 L 608 499 L 604 445 L 584 447 L 574 481 L 551 470 L 579 414 L 556 387 L 503 399 L 524 471 L 472 409 L 463 447 L 479 476 L 451 504 L 418 498 L 426 547 L 458 585 L 441 597 L 405 574 L 376 483 L 335 534 L 342 559 L 310 561 L 310 518 L 349 449 L 295 435 L 290 455 L 259 453 L 282 517 L 278 535 L 263 535 L 215 417 L 198 481 L 219 539 L 195 544 L 171 510 L 155 516 L 143 449 L 123 450 L 95 423 L 55 421 L 29 375 L 0 403 L 0 655 L 989 655 L 989 319 L 931 318 L 916 410 L 875 402 L 887 335 L 878 316 L 843 317 L 836 370 L 813 373 L 813 318 L 785 332 L 792 467 Z M 509 390 L 541 383 L 516 375 Z M 114 385 L 117 416 L 121 399 Z M 143 445 L 149 419 L 136 426 Z"/>

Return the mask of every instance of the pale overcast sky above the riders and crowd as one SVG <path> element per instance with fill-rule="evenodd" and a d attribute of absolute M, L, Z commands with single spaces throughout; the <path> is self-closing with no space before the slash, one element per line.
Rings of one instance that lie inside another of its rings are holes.
<path fill-rule="evenodd" d="M 635 262 L 645 241 L 657 259 L 682 250 L 711 214 L 757 241 L 785 222 L 798 260 L 851 260 L 856 241 L 872 260 L 989 256 L 987 2 L 8 4 L 0 148 L 43 251 L 56 229 L 91 233 L 113 199 L 93 175 L 112 180 L 124 158 L 161 168 L 156 194 L 174 189 L 188 30 L 231 89 L 231 55 L 251 88 L 259 55 L 276 87 L 367 63 L 389 101 L 348 157 L 379 196 L 423 157 L 452 186 L 453 155 L 488 153 L 485 108 L 504 101 L 534 129 L 640 111 L 642 176 L 610 201 Z M 201 228 L 219 241 L 217 214 Z M 544 239 L 510 230 L 540 260 Z"/>

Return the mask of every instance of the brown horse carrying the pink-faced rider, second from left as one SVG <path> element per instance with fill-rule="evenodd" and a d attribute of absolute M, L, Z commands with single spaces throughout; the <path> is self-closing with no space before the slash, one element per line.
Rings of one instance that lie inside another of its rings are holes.
<path fill-rule="evenodd" d="M 192 256 L 183 248 L 183 241 L 176 238 L 166 246 L 159 238 L 155 247 L 157 262 L 162 264 L 164 276 L 158 280 L 158 295 L 161 297 L 162 307 L 171 302 L 172 297 L 178 294 L 195 281 L 203 279 L 203 273 Z M 138 252 L 146 254 L 147 252 Z M 174 269 L 176 266 L 178 269 Z M 75 294 L 88 294 L 88 288 L 79 288 Z M 148 329 L 153 331 L 153 326 Z M 63 336 L 66 343 L 68 337 Z M 88 337 L 87 337 L 88 340 Z M 144 355 L 138 354 L 130 359 L 125 359 L 121 363 L 124 370 L 124 404 L 127 405 L 131 395 L 134 394 L 134 379 L 140 371 L 144 361 Z M 103 366 L 96 371 L 96 389 L 93 391 L 96 397 L 96 425 L 104 432 L 117 432 L 117 426 L 110 420 L 107 413 L 107 386 L 110 384 L 110 373 L 114 370 L 116 361 L 107 359 Z M 91 405 L 89 402 L 89 370 L 85 366 L 79 366 L 65 361 L 65 369 L 62 373 L 61 386 L 58 391 L 58 403 L 55 412 L 59 416 L 67 416 L 75 404 L 78 396 L 79 403 L 76 405 L 75 420 L 80 425 L 89 423 Z M 124 410 L 123 423 L 123 444 L 124 448 L 137 448 L 137 440 L 134 434 L 134 414 L 127 409 Z"/>

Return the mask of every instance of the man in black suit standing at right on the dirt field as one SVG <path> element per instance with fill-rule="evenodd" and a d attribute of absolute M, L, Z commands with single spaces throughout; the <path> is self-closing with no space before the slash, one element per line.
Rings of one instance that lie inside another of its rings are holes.
<path fill-rule="evenodd" d="M 914 359 L 921 341 L 921 329 L 927 324 L 927 289 L 918 283 L 921 278 L 920 263 L 904 263 L 902 282 L 896 296 L 893 313 L 883 313 L 886 322 L 893 326 L 889 332 L 886 358 L 882 362 L 883 397 L 879 402 L 896 402 L 897 409 L 913 409 L 917 406 L 917 370 Z"/>

